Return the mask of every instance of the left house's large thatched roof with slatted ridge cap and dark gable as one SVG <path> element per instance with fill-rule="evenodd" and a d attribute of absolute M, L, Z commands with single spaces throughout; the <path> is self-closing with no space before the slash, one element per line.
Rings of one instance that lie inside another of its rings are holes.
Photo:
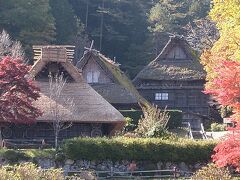
<path fill-rule="evenodd" d="M 38 122 L 51 122 L 48 74 L 63 72 L 67 78 L 62 96 L 70 98 L 75 104 L 75 111 L 69 111 L 64 102 L 57 102 L 69 116 L 65 121 L 74 123 L 109 124 L 109 131 L 113 133 L 124 124 L 124 117 L 99 95 L 90 85 L 85 83 L 81 72 L 71 63 L 73 50 L 71 46 L 34 46 L 35 63 L 29 74 L 34 78 L 41 90 L 41 97 L 36 102 L 43 111 Z"/>

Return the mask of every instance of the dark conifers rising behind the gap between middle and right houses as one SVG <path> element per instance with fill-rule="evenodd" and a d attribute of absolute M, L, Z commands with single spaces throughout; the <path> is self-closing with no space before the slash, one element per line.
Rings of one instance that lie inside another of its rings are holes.
<path fill-rule="evenodd" d="M 132 77 L 146 64 L 146 59 L 151 59 L 145 42 L 149 34 L 146 14 L 152 1 L 70 0 L 70 3 L 94 40 L 94 47 L 116 57 Z"/>

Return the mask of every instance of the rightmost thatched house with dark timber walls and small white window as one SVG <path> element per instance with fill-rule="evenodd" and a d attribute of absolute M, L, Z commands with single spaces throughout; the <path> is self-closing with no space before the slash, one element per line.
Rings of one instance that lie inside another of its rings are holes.
<path fill-rule="evenodd" d="M 199 58 L 187 41 L 172 36 L 133 83 L 147 100 L 162 108 L 182 110 L 184 120 L 198 128 L 202 121 L 200 115 L 208 115 L 208 96 L 202 93 L 205 76 Z"/>

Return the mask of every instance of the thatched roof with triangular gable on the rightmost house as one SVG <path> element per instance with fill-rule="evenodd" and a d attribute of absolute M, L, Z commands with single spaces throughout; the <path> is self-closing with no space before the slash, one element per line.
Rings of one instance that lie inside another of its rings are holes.
<path fill-rule="evenodd" d="M 179 48 L 183 58 L 171 58 L 174 48 Z M 162 52 L 135 77 L 138 80 L 200 80 L 206 73 L 195 52 L 183 37 L 170 37 Z"/>

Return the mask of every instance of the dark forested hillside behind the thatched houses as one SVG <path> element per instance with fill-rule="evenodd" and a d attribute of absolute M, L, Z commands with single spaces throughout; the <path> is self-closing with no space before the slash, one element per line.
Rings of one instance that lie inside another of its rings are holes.
<path fill-rule="evenodd" d="M 21 41 L 30 60 L 33 44 L 70 44 L 76 62 L 94 40 L 133 78 L 160 52 L 167 32 L 184 33 L 209 6 L 210 0 L 8 0 L 0 1 L 0 30 Z"/>

